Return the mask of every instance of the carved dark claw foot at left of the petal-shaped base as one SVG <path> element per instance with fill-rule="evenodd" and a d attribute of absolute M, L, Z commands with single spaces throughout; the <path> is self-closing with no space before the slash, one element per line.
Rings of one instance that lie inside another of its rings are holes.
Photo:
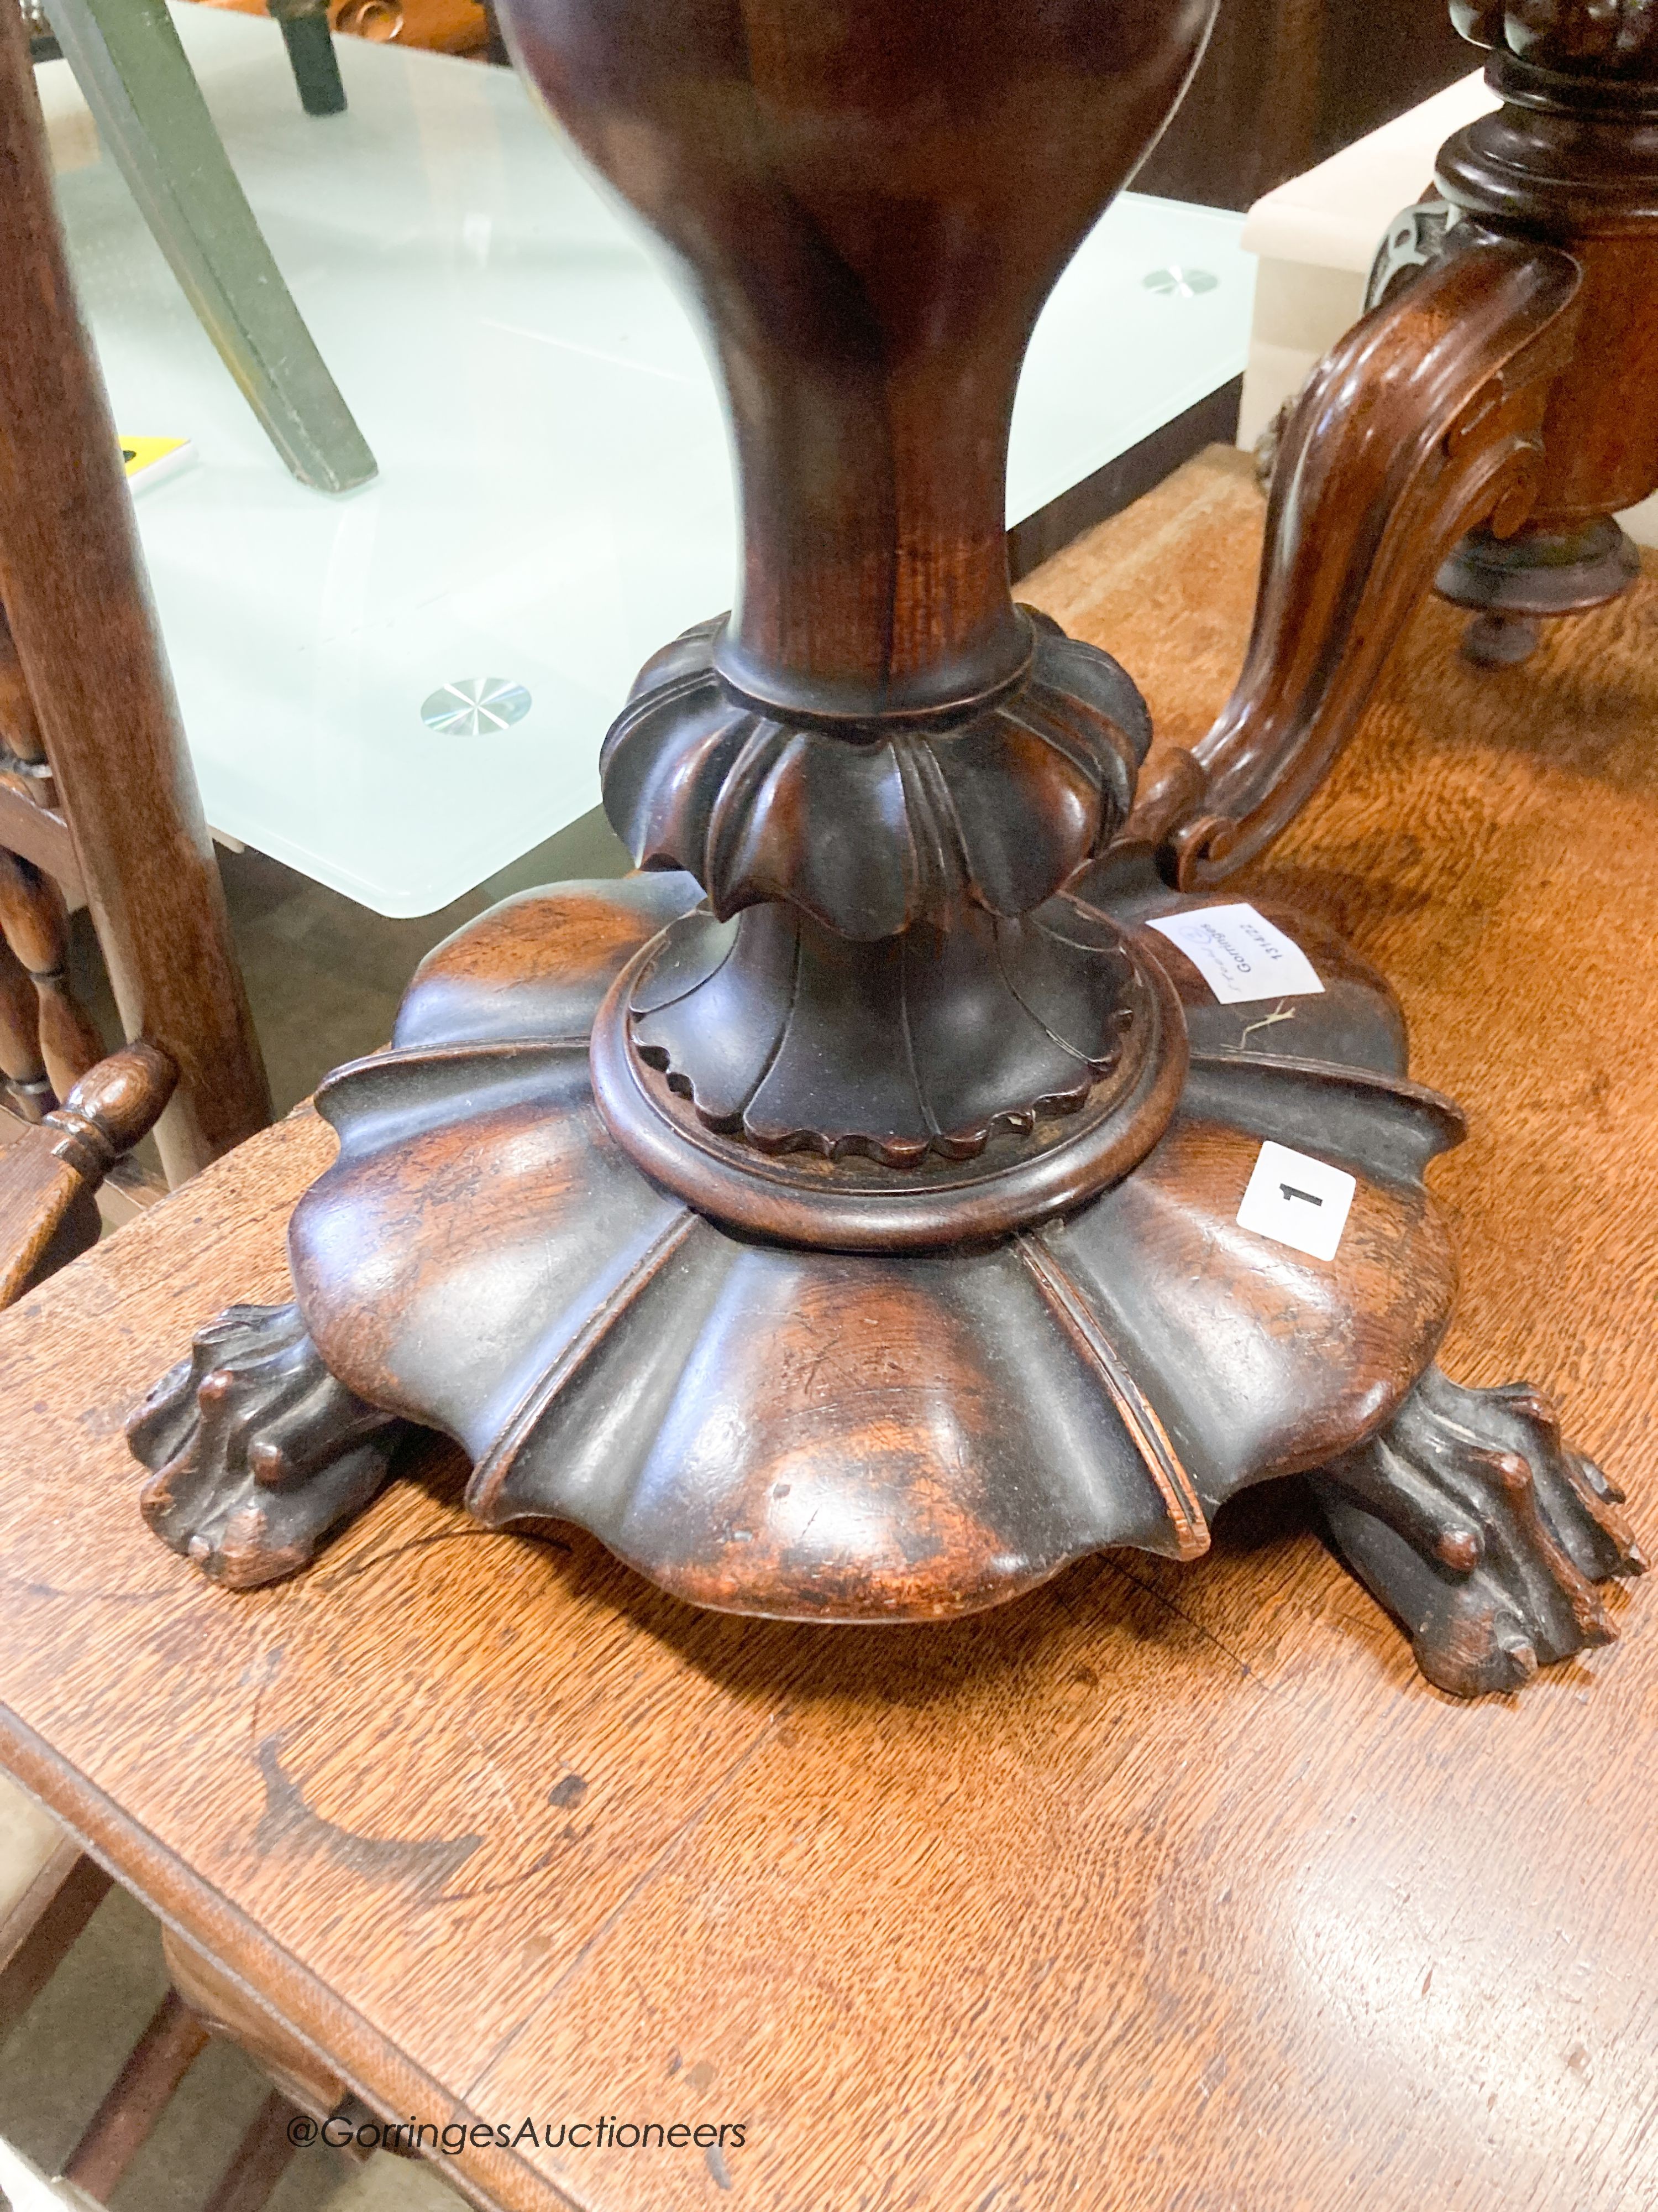
<path fill-rule="evenodd" d="M 133 1413 L 144 1517 L 212 1582 L 296 1573 L 360 1513 L 409 1429 L 334 1380 L 296 1305 L 232 1305 Z"/>

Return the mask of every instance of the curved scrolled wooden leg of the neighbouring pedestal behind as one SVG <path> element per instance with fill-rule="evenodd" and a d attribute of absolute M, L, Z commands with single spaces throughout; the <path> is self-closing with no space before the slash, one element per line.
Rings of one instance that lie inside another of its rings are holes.
<path fill-rule="evenodd" d="M 1220 883 L 1302 807 L 1353 734 L 1446 551 L 1532 511 L 1576 263 L 1461 226 L 1318 365 L 1282 431 L 1256 626 L 1192 781 L 1141 799 L 1125 841 Z"/>

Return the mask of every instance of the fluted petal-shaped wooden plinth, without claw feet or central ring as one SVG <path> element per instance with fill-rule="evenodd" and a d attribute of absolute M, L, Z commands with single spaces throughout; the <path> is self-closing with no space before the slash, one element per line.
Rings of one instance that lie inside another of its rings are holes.
<path fill-rule="evenodd" d="M 1200 1553 L 1222 1498 L 1351 1449 L 1430 1363 L 1452 1261 L 1421 1168 L 1459 1119 L 1315 925 L 1269 909 L 1324 991 L 1262 1029 L 1143 927 L 1192 900 L 1110 867 L 1072 896 L 1178 993 L 1178 1106 L 1090 1203 L 942 1252 L 734 1234 L 610 1135 L 586 1031 L 690 878 L 484 916 L 424 964 L 393 1051 L 318 1093 L 340 1157 L 292 1261 L 327 1369 L 455 1436 L 491 1526 L 577 1522 L 703 1606 L 935 1619 L 1103 1546 Z M 1267 1137 L 1355 1177 L 1333 1261 L 1238 1225 Z"/>

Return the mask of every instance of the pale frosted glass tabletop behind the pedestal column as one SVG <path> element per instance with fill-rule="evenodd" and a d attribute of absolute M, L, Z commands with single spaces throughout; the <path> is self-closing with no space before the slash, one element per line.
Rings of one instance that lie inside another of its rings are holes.
<path fill-rule="evenodd" d="M 380 914 L 429 914 L 595 805 L 639 664 L 730 606 L 718 400 L 637 226 L 508 71 L 343 38 L 349 108 L 309 117 L 274 22 L 175 20 L 380 462 L 345 498 L 290 478 L 69 66 L 44 64 L 117 427 L 195 449 L 137 515 L 203 805 Z M 1088 239 L 1019 392 L 1010 522 L 1242 369 L 1240 228 L 1130 197 Z M 427 728 L 431 695 L 475 679 L 500 679 L 506 710 Z"/>

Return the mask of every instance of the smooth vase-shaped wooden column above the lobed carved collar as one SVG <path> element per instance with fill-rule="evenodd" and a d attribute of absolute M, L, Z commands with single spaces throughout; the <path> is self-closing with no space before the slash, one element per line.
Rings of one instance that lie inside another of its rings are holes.
<path fill-rule="evenodd" d="M 520 69 L 716 341 L 743 580 L 716 666 L 785 714 L 937 710 L 1028 659 L 1006 438 L 1037 310 L 1214 0 L 513 0 Z"/>

